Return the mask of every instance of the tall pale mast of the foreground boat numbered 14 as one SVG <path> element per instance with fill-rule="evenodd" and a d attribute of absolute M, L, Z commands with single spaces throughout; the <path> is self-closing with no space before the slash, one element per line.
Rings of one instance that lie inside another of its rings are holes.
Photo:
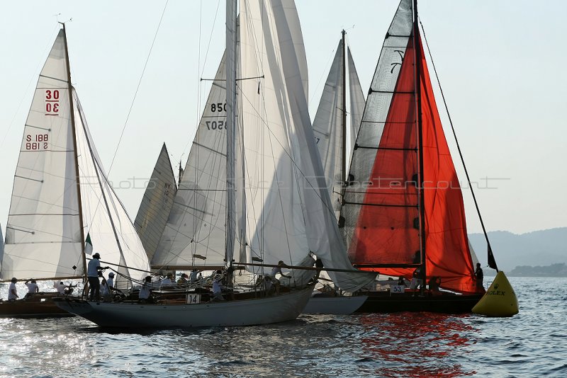
<path fill-rule="evenodd" d="M 235 147 L 236 147 L 236 0 L 226 0 L 226 264 L 232 266 L 235 247 Z"/>

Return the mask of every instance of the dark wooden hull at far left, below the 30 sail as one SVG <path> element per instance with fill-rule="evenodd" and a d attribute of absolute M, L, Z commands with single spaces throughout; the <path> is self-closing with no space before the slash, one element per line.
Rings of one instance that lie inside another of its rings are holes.
<path fill-rule="evenodd" d="M 0 302 L 0 318 L 47 318 L 74 316 L 57 307 L 54 295 L 36 295 L 31 299 Z"/>

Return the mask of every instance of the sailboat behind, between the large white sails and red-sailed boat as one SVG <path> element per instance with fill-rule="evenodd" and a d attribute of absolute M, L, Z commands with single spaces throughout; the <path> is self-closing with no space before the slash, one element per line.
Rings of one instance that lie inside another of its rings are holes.
<path fill-rule="evenodd" d="M 346 181 L 348 160 L 354 149 L 362 112 L 364 93 L 350 48 L 347 47 L 346 32 L 342 30 L 335 57 L 325 81 L 315 120 L 313 134 L 321 156 L 322 166 L 327 178 L 327 189 L 335 217 L 339 219 L 342 204 L 342 191 Z M 348 72 L 348 76 L 347 76 Z M 348 84 L 347 84 L 348 82 Z M 347 93 L 349 103 L 347 104 Z M 347 115 L 349 117 L 347 118 Z M 347 119 L 349 125 L 347 125 Z M 347 138 L 347 136 L 349 138 Z M 348 139 L 348 140 L 347 140 Z M 364 295 L 344 295 L 337 292 L 328 282 L 332 282 L 325 272 L 318 277 L 320 290 L 303 310 L 304 314 L 352 314 L 366 301 Z M 327 283 L 325 283 L 327 282 Z"/>

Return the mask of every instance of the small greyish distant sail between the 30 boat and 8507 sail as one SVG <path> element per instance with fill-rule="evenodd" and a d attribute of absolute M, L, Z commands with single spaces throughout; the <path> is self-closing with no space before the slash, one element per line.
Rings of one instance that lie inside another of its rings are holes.
<path fill-rule="evenodd" d="M 177 186 L 172 163 L 169 161 L 169 154 L 164 143 L 162 150 L 159 151 L 150 181 L 147 182 L 144 197 L 142 197 L 142 203 L 140 203 L 140 209 L 134 221 L 147 258 L 150 260 L 162 237 L 176 192 Z"/>

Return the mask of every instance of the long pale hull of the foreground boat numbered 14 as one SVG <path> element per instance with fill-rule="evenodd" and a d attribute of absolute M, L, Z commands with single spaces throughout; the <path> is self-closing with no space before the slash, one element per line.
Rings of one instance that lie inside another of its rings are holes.
<path fill-rule="evenodd" d="M 252 326 L 296 319 L 313 287 L 276 297 L 201 304 L 128 304 L 62 299 L 57 306 L 101 327 Z"/>

